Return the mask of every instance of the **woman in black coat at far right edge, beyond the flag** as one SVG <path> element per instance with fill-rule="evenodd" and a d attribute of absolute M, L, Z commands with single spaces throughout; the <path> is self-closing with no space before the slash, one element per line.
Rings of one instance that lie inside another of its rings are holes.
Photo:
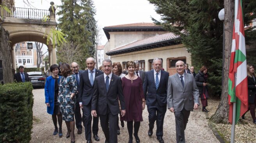
<path fill-rule="evenodd" d="M 255 105 L 256 105 L 256 74 L 252 65 L 247 65 L 247 77 L 248 77 L 248 103 L 249 110 L 253 119 L 253 123 L 256 124 L 255 117 Z M 245 114 L 244 114 L 245 115 Z M 244 115 L 242 118 L 244 119 Z"/>

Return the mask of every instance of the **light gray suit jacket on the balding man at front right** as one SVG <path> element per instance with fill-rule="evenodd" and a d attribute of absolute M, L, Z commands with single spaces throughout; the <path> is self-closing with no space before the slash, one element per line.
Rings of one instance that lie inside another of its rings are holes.
<path fill-rule="evenodd" d="M 173 107 L 174 112 L 180 112 L 183 107 L 192 110 L 194 103 L 199 104 L 199 91 L 193 75 L 184 72 L 184 88 L 178 73 L 168 79 L 167 107 Z"/>

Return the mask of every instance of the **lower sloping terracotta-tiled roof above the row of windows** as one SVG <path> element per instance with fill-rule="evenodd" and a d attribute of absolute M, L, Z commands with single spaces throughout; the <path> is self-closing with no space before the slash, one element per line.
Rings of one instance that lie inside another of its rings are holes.
<path fill-rule="evenodd" d="M 138 46 L 143 46 L 143 45 L 148 45 L 148 44 L 154 44 L 154 43 L 163 42 L 163 41 L 167 41 L 167 40 L 171 40 L 171 39 L 175 39 L 175 38 L 180 38 L 180 37 L 177 36 L 177 35 L 174 35 L 173 33 L 165 33 L 165 34 L 162 34 L 162 35 L 157 35 L 155 37 L 149 37 L 149 38 L 146 38 L 146 39 L 137 40 L 137 41 L 132 42 L 130 44 L 123 45 L 121 47 L 117 47 L 115 49 L 112 49 L 112 50 L 108 51 L 107 53 L 120 51 L 120 50 L 131 49 L 133 47 L 138 47 Z"/>

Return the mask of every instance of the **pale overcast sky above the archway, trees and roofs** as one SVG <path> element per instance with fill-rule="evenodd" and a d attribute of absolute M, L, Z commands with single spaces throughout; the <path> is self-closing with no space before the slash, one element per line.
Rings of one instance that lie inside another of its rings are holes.
<path fill-rule="evenodd" d="M 15 0 L 15 7 L 29 8 L 23 1 L 29 1 L 33 9 L 49 9 L 50 2 L 61 5 L 60 0 Z M 148 0 L 93 0 L 96 16 L 95 19 L 100 28 L 99 45 L 105 45 L 107 37 L 102 28 L 105 26 L 130 24 L 130 23 L 152 23 L 151 17 L 159 20 L 155 6 Z M 57 8 L 57 11 L 59 9 Z M 57 16 L 58 18 L 58 16 Z"/>

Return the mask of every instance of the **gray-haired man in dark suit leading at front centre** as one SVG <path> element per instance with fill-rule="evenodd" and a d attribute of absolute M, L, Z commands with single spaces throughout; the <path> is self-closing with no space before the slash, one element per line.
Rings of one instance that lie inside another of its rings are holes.
<path fill-rule="evenodd" d="M 95 78 L 92 96 L 92 115 L 100 116 L 100 124 L 105 135 L 105 143 L 117 143 L 117 122 L 119 103 L 121 116 L 125 115 L 125 104 L 121 78 L 112 74 L 112 61 L 102 62 L 104 74 Z M 97 111 L 97 112 L 96 112 Z"/>

